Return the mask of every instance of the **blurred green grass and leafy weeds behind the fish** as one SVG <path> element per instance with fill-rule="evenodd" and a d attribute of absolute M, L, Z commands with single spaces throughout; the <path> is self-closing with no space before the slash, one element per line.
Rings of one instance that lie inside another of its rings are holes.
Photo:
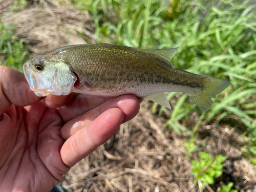
<path fill-rule="evenodd" d="M 169 116 L 166 109 L 156 103 L 147 102 L 145 106 L 156 118 L 165 118 L 163 126 L 169 132 L 185 135 L 185 158 L 191 163 L 190 172 L 198 190 L 203 191 L 205 187 L 215 183 L 215 179 L 222 175 L 223 162 L 229 158 L 225 153 L 215 155 L 209 145 L 204 143 L 199 129 L 227 127 L 237 133 L 236 136 L 233 135 L 237 138 L 233 139 L 243 141 L 239 147 L 240 158 L 245 158 L 255 168 L 254 1 L 16 0 L 8 11 L 1 12 L 0 65 L 22 71 L 23 63 L 31 58 L 32 45 L 16 36 L 15 25 L 5 24 L 4 19 L 34 4 L 72 6 L 79 9 L 81 14 L 88 12 L 93 20 L 95 39 L 88 38 L 87 34 L 74 28 L 70 28 L 69 33 L 76 31 L 89 44 L 108 42 L 141 49 L 179 47 L 171 61 L 175 67 L 229 80 L 232 85 L 214 99 L 212 108 L 207 112 L 200 111 L 186 94 L 173 92 L 168 94 L 173 108 Z M 69 43 L 66 42 L 67 45 Z M 190 123 L 193 115 L 196 116 L 196 123 Z M 236 183 L 233 185 L 233 182 L 219 184 L 219 191 L 239 189 L 234 187 Z"/>

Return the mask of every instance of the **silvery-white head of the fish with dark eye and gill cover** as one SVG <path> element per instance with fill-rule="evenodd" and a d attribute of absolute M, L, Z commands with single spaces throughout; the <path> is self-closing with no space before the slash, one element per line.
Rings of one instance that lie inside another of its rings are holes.
<path fill-rule="evenodd" d="M 77 80 L 69 63 L 53 55 L 37 55 L 23 65 L 30 89 L 39 97 L 68 95 Z"/>

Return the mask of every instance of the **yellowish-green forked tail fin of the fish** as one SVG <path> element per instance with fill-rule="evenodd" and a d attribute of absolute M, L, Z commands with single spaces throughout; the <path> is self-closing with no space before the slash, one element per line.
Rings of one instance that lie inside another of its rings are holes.
<path fill-rule="evenodd" d="M 196 95 L 188 94 L 188 96 L 196 103 L 199 109 L 208 111 L 212 105 L 211 98 L 215 98 L 216 95 L 225 90 L 228 86 L 230 86 L 230 84 L 231 83 L 227 80 L 206 76 L 204 90 L 200 91 Z"/>

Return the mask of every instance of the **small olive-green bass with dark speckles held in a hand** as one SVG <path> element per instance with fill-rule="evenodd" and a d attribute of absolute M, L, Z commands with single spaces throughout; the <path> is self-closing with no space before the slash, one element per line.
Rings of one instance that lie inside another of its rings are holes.
<path fill-rule="evenodd" d="M 133 94 L 171 109 L 165 92 L 183 92 L 199 109 L 208 111 L 211 98 L 230 82 L 174 67 L 170 60 L 177 49 L 71 45 L 34 56 L 23 70 L 30 89 L 39 97 L 72 92 L 108 97 Z"/>

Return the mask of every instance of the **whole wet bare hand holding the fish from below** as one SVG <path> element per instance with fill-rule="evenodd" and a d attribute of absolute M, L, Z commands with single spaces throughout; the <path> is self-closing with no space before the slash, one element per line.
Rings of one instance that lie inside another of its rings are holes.
<path fill-rule="evenodd" d="M 0 191 L 49 191 L 139 111 L 134 95 L 37 97 L 0 66 Z"/>

